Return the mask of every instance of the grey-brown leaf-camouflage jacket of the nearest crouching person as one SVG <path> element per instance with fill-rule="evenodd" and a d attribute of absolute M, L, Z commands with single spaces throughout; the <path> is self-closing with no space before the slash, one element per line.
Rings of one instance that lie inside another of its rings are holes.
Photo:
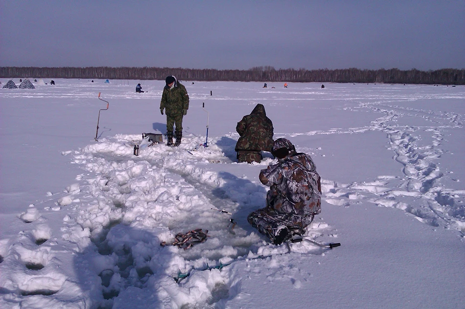
<path fill-rule="evenodd" d="M 259 179 L 263 185 L 270 186 L 266 195 L 267 206 L 279 213 L 320 213 L 320 175 L 309 155 L 294 151 L 277 164 L 262 169 Z"/>

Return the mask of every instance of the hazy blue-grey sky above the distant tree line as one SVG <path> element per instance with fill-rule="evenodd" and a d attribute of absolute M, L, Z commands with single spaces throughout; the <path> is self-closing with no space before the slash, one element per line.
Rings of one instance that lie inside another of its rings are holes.
<path fill-rule="evenodd" d="M 465 2 L 0 1 L 0 66 L 465 68 Z"/>

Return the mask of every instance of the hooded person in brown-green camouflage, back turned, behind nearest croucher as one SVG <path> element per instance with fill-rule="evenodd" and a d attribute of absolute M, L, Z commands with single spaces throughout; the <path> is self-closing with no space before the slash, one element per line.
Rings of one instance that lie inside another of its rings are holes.
<path fill-rule="evenodd" d="M 240 137 L 235 151 L 239 162 L 260 162 L 261 151 L 271 151 L 273 146 L 273 123 L 266 117 L 265 106 L 256 104 L 250 115 L 242 117 L 236 131 Z"/>

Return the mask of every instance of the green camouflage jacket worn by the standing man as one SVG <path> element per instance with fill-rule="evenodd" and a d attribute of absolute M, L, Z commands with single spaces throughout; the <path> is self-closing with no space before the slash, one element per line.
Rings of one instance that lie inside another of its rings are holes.
<path fill-rule="evenodd" d="M 189 95 L 186 87 L 178 81 L 175 82 L 172 89 L 165 86 L 160 109 L 162 111 L 165 109 L 166 115 L 170 117 L 183 115 L 183 109 L 189 109 Z"/>

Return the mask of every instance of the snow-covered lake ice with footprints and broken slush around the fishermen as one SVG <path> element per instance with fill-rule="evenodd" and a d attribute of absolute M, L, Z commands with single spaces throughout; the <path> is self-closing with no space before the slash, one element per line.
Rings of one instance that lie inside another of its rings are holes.
<path fill-rule="evenodd" d="M 184 82 L 183 143 L 134 156 L 163 81 L 54 81 L 0 91 L 0 308 L 465 308 L 464 86 Z M 274 162 L 235 159 L 257 103 L 322 177 L 306 236 L 341 247 L 247 223 Z"/>

